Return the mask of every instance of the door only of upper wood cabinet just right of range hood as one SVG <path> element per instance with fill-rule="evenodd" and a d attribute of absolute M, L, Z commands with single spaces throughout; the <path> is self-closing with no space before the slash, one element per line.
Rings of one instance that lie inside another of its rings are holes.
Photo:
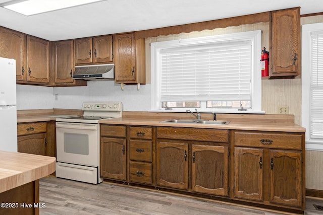
<path fill-rule="evenodd" d="M 116 82 L 135 81 L 135 36 L 134 33 L 115 36 Z"/>

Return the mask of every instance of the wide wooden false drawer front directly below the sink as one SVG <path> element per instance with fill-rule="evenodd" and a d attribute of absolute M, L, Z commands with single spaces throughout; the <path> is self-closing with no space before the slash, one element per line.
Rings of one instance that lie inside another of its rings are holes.
<path fill-rule="evenodd" d="M 229 142 L 229 130 L 206 128 L 157 127 L 157 138 Z"/>

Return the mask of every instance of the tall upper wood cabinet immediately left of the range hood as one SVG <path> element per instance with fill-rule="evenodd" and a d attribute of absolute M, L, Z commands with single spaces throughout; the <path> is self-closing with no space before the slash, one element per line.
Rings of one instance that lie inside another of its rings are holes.
<path fill-rule="evenodd" d="M 83 80 L 73 80 L 74 73 L 74 40 L 64 40 L 52 43 L 51 74 L 52 86 L 86 86 Z"/>

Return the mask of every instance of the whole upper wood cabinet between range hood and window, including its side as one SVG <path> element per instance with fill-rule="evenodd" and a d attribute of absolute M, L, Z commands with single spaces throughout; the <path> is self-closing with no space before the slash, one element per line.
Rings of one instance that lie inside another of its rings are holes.
<path fill-rule="evenodd" d="M 114 35 L 115 82 L 145 84 L 145 39 L 135 33 Z"/>

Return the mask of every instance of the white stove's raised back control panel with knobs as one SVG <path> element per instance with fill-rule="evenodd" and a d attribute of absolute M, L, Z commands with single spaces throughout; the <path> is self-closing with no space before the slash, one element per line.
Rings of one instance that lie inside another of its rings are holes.
<path fill-rule="evenodd" d="M 121 102 L 84 102 L 83 111 L 122 111 Z"/>

